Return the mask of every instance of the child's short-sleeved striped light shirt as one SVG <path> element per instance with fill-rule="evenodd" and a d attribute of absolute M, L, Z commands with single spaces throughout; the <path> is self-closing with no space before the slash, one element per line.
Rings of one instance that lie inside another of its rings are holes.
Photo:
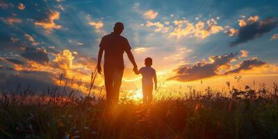
<path fill-rule="evenodd" d="M 139 73 L 142 74 L 142 85 L 154 85 L 153 78 L 156 77 L 156 70 L 152 67 L 141 67 Z"/>

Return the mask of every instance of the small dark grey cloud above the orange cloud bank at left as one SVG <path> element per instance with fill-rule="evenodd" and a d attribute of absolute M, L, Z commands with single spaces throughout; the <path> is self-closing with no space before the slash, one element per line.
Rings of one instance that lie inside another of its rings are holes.
<path fill-rule="evenodd" d="M 40 63 L 42 65 L 49 63 L 49 57 L 45 49 L 26 47 L 25 52 L 22 54 L 22 57 L 28 60 L 32 60 L 36 63 Z"/>

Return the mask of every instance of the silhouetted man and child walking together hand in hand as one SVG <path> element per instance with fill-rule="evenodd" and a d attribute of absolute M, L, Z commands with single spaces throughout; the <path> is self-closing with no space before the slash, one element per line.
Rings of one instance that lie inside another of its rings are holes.
<path fill-rule="evenodd" d="M 106 87 L 106 101 L 117 103 L 119 101 L 122 75 L 124 74 L 124 58 L 126 52 L 133 64 L 133 71 L 142 75 L 143 103 L 152 102 L 153 88 L 157 88 L 156 70 L 152 68 L 152 58 L 145 58 L 145 67 L 138 70 L 129 41 L 121 33 L 124 24 L 117 22 L 113 33 L 104 35 L 99 44 L 97 72 L 101 74 L 101 58 L 104 53 L 104 82 Z"/>

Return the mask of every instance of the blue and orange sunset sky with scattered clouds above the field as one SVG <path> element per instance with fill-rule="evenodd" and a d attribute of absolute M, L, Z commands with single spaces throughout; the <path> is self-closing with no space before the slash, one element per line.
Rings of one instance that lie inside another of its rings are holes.
<path fill-rule="evenodd" d="M 278 76 L 278 1 L 3 1 L 0 0 L 1 88 L 45 90 L 60 82 L 88 89 L 99 42 L 124 24 L 138 67 L 153 58 L 158 85 L 223 88 L 272 85 Z M 126 64 L 122 90 L 140 87 Z M 98 74 L 95 88 L 104 85 Z"/>

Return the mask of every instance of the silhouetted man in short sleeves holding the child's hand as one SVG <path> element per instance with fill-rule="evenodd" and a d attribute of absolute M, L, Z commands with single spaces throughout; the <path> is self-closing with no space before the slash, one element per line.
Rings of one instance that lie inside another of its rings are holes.
<path fill-rule="evenodd" d="M 115 103 L 119 100 L 122 74 L 124 73 L 124 51 L 133 64 L 133 70 L 137 69 L 129 41 L 121 35 L 123 30 L 124 24 L 117 22 L 114 26 L 114 32 L 104 35 L 99 44 L 99 56 L 97 60 L 97 72 L 101 74 L 101 58 L 104 52 L 106 100 Z"/>

